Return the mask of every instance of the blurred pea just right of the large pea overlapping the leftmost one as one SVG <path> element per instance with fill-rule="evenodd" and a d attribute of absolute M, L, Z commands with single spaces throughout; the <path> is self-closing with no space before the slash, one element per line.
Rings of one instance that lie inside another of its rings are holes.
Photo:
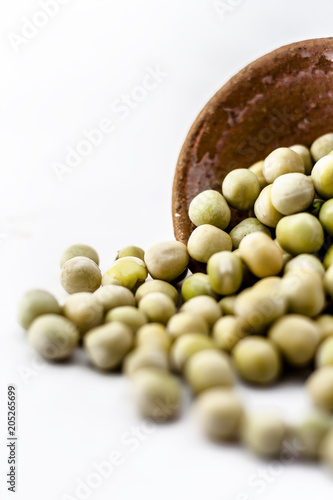
<path fill-rule="evenodd" d="M 102 370 L 118 368 L 132 344 L 133 332 L 119 321 L 97 326 L 83 339 L 90 361 Z"/>

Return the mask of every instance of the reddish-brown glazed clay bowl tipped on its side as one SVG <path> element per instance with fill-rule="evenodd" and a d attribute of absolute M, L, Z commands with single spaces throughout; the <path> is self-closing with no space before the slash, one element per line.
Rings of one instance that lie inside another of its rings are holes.
<path fill-rule="evenodd" d="M 230 170 L 332 131 L 333 38 L 292 43 L 246 66 L 206 104 L 185 139 L 173 183 L 176 239 L 187 243 L 194 229 L 191 200 L 205 189 L 221 192 Z M 228 230 L 245 217 L 233 210 Z"/>

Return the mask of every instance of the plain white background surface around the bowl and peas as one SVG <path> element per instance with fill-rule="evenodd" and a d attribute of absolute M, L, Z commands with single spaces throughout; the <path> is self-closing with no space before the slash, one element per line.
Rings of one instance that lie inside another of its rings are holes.
<path fill-rule="evenodd" d="M 85 498 L 307 500 L 314 490 L 332 498 L 332 477 L 317 465 L 261 462 L 237 446 L 207 442 L 187 393 L 180 420 L 148 429 L 127 380 L 94 371 L 80 353 L 68 364 L 41 365 L 16 324 L 25 290 L 46 288 L 64 299 L 66 246 L 96 247 L 105 271 L 126 244 L 172 239 L 177 156 L 208 99 L 257 57 L 332 35 L 331 0 L 223 3 L 219 15 L 213 0 L 69 0 L 30 40 L 14 43 L 23 18 L 36 20 L 41 9 L 37 0 L 1 0 L 1 498 L 83 498 L 78 480 L 86 483 L 93 463 L 116 451 L 121 463 Z M 156 88 L 125 118 L 112 110 L 156 66 L 167 73 Z M 104 119 L 113 121 L 112 133 L 60 182 L 55 162 L 65 163 L 83 131 Z M 4 484 L 8 383 L 18 390 L 15 495 Z M 274 390 L 239 390 L 248 407 L 290 419 L 309 406 L 301 377 Z M 132 426 L 141 435 L 128 442 Z"/>

